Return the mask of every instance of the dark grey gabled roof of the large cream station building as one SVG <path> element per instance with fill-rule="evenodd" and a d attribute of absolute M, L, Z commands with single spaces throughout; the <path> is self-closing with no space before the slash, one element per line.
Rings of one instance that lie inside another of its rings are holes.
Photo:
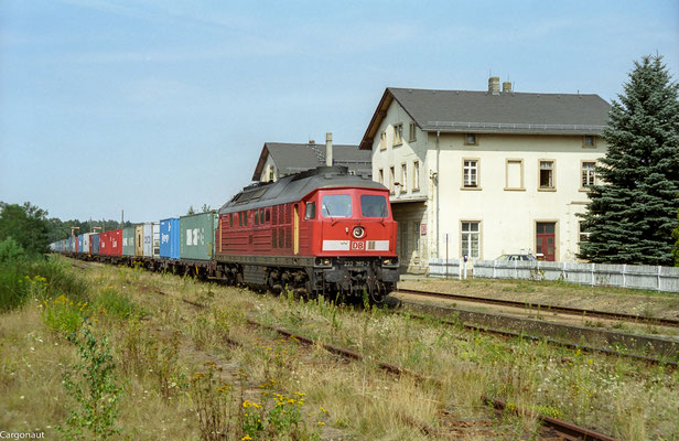
<path fill-rule="evenodd" d="M 425 131 L 601 135 L 611 105 L 592 94 L 527 94 L 389 87 L 360 142 L 371 149 L 386 110 L 396 100 Z"/>

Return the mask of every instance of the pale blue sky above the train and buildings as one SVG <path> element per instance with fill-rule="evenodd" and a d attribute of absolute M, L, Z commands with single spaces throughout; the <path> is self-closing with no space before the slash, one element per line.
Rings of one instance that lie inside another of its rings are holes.
<path fill-rule="evenodd" d="M 679 2 L 0 1 L 0 201 L 218 208 L 265 142 L 358 144 L 386 87 L 597 94 L 679 73 Z"/>

